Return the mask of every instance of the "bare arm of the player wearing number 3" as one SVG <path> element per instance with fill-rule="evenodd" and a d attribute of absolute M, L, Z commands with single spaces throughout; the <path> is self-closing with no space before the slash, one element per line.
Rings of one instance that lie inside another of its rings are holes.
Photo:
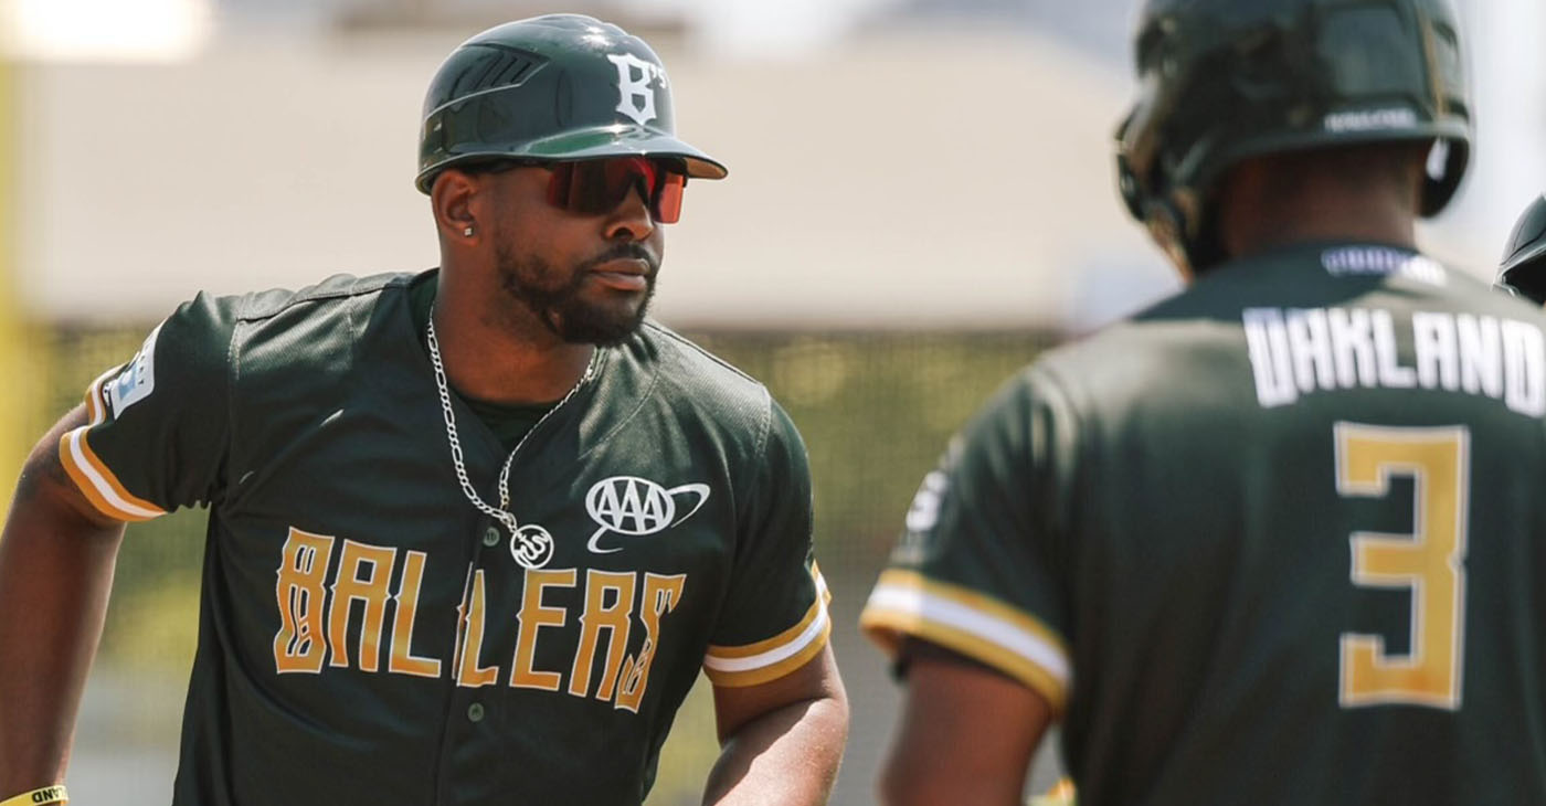
<path fill-rule="evenodd" d="M 1050 722 L 1047 701 L 1019 681 L 942 654 L 911 656 L 881 803 L 1019 806 Z"/>

